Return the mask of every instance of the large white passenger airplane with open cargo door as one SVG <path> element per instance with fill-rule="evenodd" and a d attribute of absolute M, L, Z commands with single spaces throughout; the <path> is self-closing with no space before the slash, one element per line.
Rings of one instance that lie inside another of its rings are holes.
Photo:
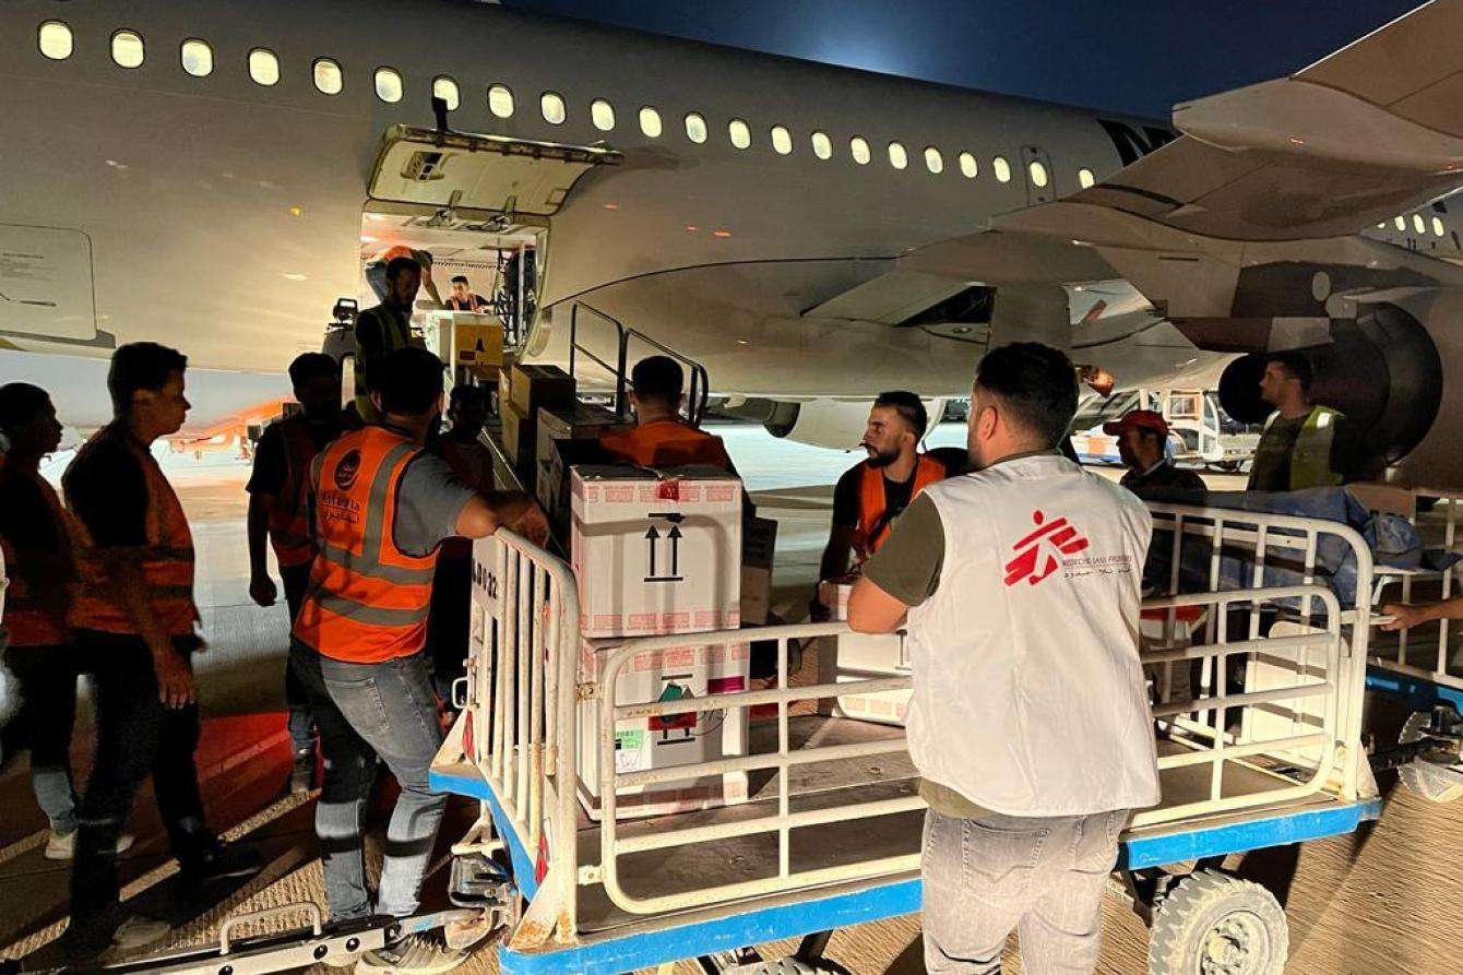
<path fill-rule="evenodd" d="M 1463 474 L 1434 423 L 1463 407 L 1460 0 L 1172 127 L 454 0 L 12 0 L 0 31 L 16 350 L 278 375 L 364 258 L 427 249 L 445 290 L 533 247 L 533 356 L 616 319 L 797 439 L 966 394 L 988 341 L 1125 388 L 1304 347 L 1406 476 Z"/>

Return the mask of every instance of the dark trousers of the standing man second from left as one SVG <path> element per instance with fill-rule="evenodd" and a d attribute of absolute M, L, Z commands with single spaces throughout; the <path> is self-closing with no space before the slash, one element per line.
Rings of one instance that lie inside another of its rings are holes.
<path fill-rule="evenodd" d="M 173 855 L 196 864 L 212 842 L 198 791 L 198 704 L 170 709 L 158 700 L 152 654 L 140 637 L 76 631 L 82 670 L 97 695 L 97 758 L 78 810 L 72 868 L 72 925 L 85 928 L 117 903 L 117 837 L 132 799 L 149 774 Z M 190 653 L 180 647 L 178 653 Z"/>

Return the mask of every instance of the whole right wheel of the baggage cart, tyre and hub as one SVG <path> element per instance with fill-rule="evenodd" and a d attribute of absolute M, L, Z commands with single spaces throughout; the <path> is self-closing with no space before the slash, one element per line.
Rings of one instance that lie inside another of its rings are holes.
<path fill-rule="evenodd" d="M 1249 880 L 1200 870 L 1159 903 L 1148 975 L 1280 975 L 1290 949 L 1285 911 Z"/>

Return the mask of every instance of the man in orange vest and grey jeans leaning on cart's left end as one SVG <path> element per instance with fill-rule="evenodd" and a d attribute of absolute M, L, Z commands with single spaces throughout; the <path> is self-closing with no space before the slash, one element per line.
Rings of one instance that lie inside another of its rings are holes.
<path fill-rule="evenodd" d="M 290 665 L 315 706 L 325 788 L 315 829 L 335 922 L 415 912 L 446 795 L 427 785 L 442 744 L 424 647 L 437 549 L 508 527 L 535 542 L 543 512 L 525 495 L 481 495 L 424 451 L 442 410 L 442 363 L 391 353 L 376 392 L 382 423 L 339 438 L 315 460 L 316 559 L 294 622 Z M 366 892 L 360 807 L 380 757 L 401 785 L 386 830 L 375 909 Z M 369 952 L 357 971 L 442 972 L 465 957 L 426 935 Z"/>

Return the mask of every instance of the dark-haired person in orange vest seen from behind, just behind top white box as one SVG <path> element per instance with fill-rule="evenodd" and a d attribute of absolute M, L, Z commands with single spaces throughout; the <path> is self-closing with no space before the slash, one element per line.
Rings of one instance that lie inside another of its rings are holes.
<path fill-rule="evenodd" d="M 720 436 L 680 419 L 686 373 L 670 356 L 641 359 L 631 370 L 631 406 L 635 426 L 600 436 L 614 460 L 641 467 L 708 464 L 736 473 Z"/>

